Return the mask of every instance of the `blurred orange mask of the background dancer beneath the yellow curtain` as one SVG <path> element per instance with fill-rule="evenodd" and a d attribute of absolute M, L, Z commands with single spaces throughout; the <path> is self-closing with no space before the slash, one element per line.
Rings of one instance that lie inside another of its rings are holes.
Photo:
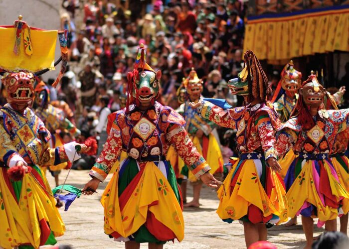
<path fill-rule="evenodd" d="M 301 87 L 302 73 L 294 69 L 291 60 L 281 74 L 281 87 L 289 97 L 294 97 Z"/>

